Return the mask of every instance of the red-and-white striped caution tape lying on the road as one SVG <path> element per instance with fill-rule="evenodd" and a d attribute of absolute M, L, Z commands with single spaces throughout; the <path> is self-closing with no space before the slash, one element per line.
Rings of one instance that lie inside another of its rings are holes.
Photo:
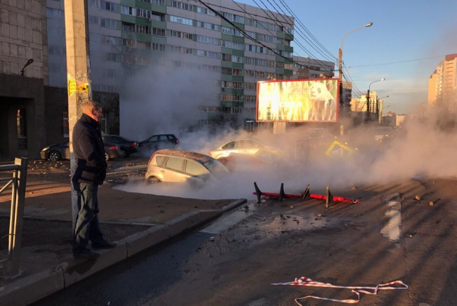
<path fill-rule="evenodd" d="M 307 295 L 304 296 L 303 298 L 296 298 L 295 302 L 302 306 L 299 300 L 304 300 L 305 298 L 316 298 L 318 300 L 331 300 L 333 302 L 345 302 L 348 304 L 354 304 L 356 302 L 359 302 L 360 300 L 360 293 L 366 293 L 366 294 L 378 294 L 378 291 L 380 290 L 398 290 L 398 289 L 407 289 L 408 285 L 404 284 L 403 281 L 391 281 L 390 283 L 385 283 L 385 284 L 378 284 L 375 287 L 363 287 L 363 286 L 335 286 L 332 284 L 326 284 L 326 283 L 321 283 L 319 281 L 313 281 L 312 279 L 309 279 L 307 277 L 300 277 L 300 279 L 295 279 L 295 281 L 289 281 L 287 283 L 274 283 L 270 284 L 273 286 L 310 286 L 310 287 L 326 287 L 326 288 L 343 288 L 343 289 L 352 289 L 352 293 L 355 293 L 357 295 L 357 299 L 354 300 L 335 300 L 333 298 L 322 298 L 320 296 L 314 296 L 314 295 Z"/>

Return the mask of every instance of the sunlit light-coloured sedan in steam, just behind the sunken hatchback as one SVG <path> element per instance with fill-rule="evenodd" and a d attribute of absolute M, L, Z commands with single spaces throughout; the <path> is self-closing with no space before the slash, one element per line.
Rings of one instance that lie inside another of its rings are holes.
<path fill-rule="evenodd" d="M 238 139 L 238 140 L 231 140 L 229 142 L 224 143 L 220 147 L 213 149 L 210 151 L 208 155 L 210 157 L 214 157 L 215 159 L 219 159 L 221 157 L 228 157 L 228 155 L 236 153 L 236 154 L 249 154 L 253 155 L 262 148 L 269 148 L 271 151 L 276 151 L 281 153 L 278 148 L 275 147 L 268 147 L 264 145 L 262 142 L 253 139 Z"/>

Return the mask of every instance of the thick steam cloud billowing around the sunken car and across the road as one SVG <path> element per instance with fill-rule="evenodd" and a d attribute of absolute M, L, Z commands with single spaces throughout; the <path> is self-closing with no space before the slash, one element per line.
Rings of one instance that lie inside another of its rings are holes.
<path fill-rule="evenodd" d="M 201 115 L 198 106 L 211 104 L 207 102 L 207 88 L 217 90 L 212 79 L 217 77 L 210 72 L 196 74 L 195 69 L 166 65 L 137 74 L 125 84 L 128 89 L 122 98 L 122 134 L 143 140 L 157 133 L 174 133 L 179 137 L 179 149 L 204 154 L 228 140 L 255 138 L 281 149 L 285 160 L 281 166 L 245 165 L 219 185 L 208 184 L 201 189 L 162 183 L 148 185 L 146 180 L 128 182 L 117 186 L 118 189 L 196 199 L 255 199 L 253 182 L 265 192 L 279 192 L 283 182 L 287 193 L 303 192 L 308 184 L 313 192 L 323 193 L 326 185 L 336 190 L 409 180 L 415 175 L 457 175 L 457 135 L 442 128 L 443 117 L 438 113 L 427 119 L 409 119 L 401 129 L 392 131 L 392 140 L 383 142 L 376 141 L 374 135 L 386 132 L 375 126 L 348 128 L 347 135 L 337 138 L 335 131 L 326 133 L 325 148 L 334 140 L 357 148 L 350 157 L 338 158 L 327 157 L 322 148 L 309 158 L 300 156 L 298 143 L 309 136 L 310 124 L 299 128 L 290 125 L 283 135 L 272 135 L 271 127 L 255 134 L 229 128 L 220 133 L 204 129 L 189 132 L 187 127 Z"/>

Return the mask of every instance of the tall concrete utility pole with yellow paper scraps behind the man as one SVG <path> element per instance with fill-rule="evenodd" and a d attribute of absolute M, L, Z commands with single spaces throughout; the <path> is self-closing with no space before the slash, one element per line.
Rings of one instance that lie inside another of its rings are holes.
<path fill-rule="evenodd" d="M 75 173 L 73 127 L 82 114 L 82 102 L 92 98 L 89 60 L 89 29 L 87 0 L 65 0 L 65 39 L 67 47 L 68 127 L 70 135 L 70 168 Z M 77 192 L 71 185 L 72 222 L 75 228 L 78 213 Z"/>

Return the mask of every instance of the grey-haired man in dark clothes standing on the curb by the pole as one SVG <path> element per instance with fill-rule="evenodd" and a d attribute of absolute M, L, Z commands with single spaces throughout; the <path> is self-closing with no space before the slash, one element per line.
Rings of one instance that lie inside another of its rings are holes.
<path fill-rule="evenodd" d="M 102 117 L 101 105 L 86 100 L 82 105 L 82 116 L 73 128 L 73 150 L 77 161 L 72 184 L 77 192 L 78 215 L 73 232 L 73 256 L 95 259 L 100 255 L 87 248 L 89 240 L 94 250 L 114 248 L 103 239 L 98 222 L 98 185 L 103 184 L 108 164 L 98 123 Z"/>

